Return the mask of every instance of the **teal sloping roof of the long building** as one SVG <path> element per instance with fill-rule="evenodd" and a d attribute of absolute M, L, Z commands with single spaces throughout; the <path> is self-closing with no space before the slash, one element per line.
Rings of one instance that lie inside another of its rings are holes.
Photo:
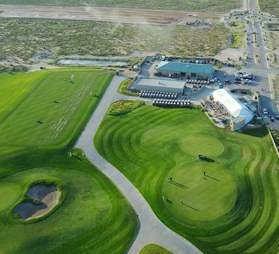
<path fill-rule="evenodd" d="M 161 61 L 156 69 L 157 69 L 157 71 L 174 71 L 174 72 L 212 74 L 213 65 L 212 64 L 192 64 L 192 63 Z"/>

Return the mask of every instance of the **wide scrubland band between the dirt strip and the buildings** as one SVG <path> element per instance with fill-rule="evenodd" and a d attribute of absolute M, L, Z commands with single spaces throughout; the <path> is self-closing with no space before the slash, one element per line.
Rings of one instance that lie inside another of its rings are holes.
<path fill-rule="evenodd" d="M 0 19 L 0 60 L 28 63 L 33 56 L 122 55 L 158 52 L 208 56 L 226 48 L 224 25 L 197 29 L 71 20 Z"/>

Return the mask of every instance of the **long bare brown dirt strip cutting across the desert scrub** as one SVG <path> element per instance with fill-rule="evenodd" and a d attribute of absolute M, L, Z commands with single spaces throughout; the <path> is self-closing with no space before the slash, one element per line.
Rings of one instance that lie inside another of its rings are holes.
<path fill-rule="evenodd" d="M 150 9 L 0 5 L 0 17 L 2 18 L 93 20 L 131 24 L 184 25 L 186 22 L 196 19 L 218 20 L 221 16 L 222 14 L 205 12 L 191 13 L 189 16 L 189 13 L 186 12 Z"/>

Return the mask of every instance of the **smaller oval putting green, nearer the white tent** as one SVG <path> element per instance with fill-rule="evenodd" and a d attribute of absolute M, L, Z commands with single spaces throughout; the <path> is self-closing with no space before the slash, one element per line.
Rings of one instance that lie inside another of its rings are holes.
<path fill-rule="evenodd" d="M 218 156 L 224 152 L 222 143 L 206 135 L 188 135 L 179 142 L 180 149 L 191 155 Z"/>

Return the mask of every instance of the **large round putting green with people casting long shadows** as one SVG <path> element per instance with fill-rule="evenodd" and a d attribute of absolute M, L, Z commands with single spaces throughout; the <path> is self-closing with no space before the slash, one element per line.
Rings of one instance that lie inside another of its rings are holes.
<path fill-rule="evenodd" d="M 196 220 L 211 220 L 228 212 L 235 203 L 237 189 L 234 180 L 215 163 L 177 165 L 169 175 L 173 179 L 168 182 L 166 178 L 162 192 L 171 201 L 167 207 L 172 213 Z"/>

